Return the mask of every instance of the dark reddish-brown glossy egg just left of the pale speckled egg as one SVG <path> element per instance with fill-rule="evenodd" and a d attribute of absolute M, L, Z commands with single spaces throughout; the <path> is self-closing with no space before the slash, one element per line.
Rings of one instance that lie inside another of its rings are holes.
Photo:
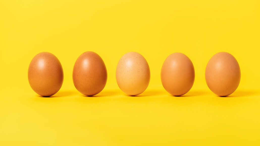
<path fill-rule="evenodd" d="M 107 83 L 107 68 L 95 52 L 84 52 L 73 68 L 73 83 L 76 89 L 87 96 L 101 92 Z"/>

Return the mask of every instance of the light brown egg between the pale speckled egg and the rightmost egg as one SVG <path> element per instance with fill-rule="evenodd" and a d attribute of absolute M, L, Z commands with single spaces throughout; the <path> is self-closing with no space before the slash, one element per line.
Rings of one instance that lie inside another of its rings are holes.
<path fill-rule="evenodd" d="M 181 96 L 190 91 L 194 78 L 193 64 L 183 53 L 169 55 L 162 64 L 162 86 L 168 93 L 174 96 Z"/>

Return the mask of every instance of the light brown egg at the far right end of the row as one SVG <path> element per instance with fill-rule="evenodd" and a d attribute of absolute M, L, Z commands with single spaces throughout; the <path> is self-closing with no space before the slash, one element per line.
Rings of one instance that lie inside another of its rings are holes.
<path fill-rule="evenodd" d="M 210 90 L 219 96 L 228 96 L 238 87 L 240 67 L 235 57 L 227 52 L 219 52 L 209 60 L 205 78 Z"/>

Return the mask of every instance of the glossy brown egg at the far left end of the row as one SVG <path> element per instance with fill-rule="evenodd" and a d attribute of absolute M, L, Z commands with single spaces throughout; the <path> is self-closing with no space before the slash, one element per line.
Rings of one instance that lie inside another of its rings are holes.
<path fill-rule="evenodd" d="M 54 95 L 63 83 L 61 62 L 49 52 L 37 54 L 29 65 L 28 80 L 37 94 L 46 97 Z"/>

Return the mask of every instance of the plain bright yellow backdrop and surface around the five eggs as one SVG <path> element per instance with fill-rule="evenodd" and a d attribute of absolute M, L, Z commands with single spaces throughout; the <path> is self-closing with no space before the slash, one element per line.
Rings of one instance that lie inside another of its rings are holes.
<path fill-rule="evenodd" d="M 258 0 L 0 1 L 0 145 L 259 145 L 260 69 Z M 31 59 L 51 52 L 64 82 L 52 98 L 29 86 Z M 108 80 L 95 97 L 72 82 L 79 55 L 94 51 Z M 129 51 L 142 54 L 151 81 L 140 96 L 124 94 L 115 69 Z M 229 97 L 213 94 L 205 67 L 229 52 L 241 82 Z M 187 94 L 174 97 L 160 82 L 163 61 L 186 54 L 195 68 Z"/>

